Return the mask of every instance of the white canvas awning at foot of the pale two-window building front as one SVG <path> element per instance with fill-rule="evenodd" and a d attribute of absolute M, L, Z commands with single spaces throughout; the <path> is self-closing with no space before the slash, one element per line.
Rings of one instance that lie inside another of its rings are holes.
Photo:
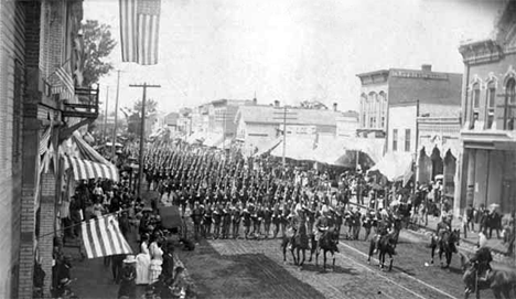
<path fill-rule="evenodd" d="M 378 171 L 389 181 L 406 181 L 412 175 L 412 161 L 410 152 L 388 152 L 368 172 Z"/>

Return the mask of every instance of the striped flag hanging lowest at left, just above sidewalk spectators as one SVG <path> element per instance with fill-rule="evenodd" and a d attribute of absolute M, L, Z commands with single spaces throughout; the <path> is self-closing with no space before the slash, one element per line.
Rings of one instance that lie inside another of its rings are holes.
<path fill-rule="evenodd" d="M 83 222 L 82 233 L 88 258 L 132 254 L 115 214 Z"/>

